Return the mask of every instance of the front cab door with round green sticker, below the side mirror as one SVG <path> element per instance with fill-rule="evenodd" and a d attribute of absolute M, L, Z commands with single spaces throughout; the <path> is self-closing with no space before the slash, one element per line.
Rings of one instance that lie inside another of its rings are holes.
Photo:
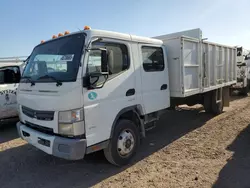
<path fill-rule="evenodd" d="M 108 50 L 109 76 L 105 83 L 104 76 L 99 78 L 93 76 L 90 82 L 96 88 L 84 89 L 84 117 L 88 146 L 109 139 L 118 113 L 136 104 L 135 75 L 130 43 L 103 39 L 101 42 L 92 44 L 92 48 L 100 47 Z M 88 65 L 88 74 L 100 73 L 100 51 L 91 50 L 85 62 Z"/>

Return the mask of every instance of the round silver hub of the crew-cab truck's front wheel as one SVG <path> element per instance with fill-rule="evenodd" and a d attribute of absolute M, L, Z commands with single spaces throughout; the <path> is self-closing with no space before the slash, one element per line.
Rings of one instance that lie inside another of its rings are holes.
<path fill-rule="evenodd" d="M 119 155 L 129 155 L 134 148 L 134 142 L 135 139 L 133 134 L 129 130 L 122 131 L 117 141 L 117 150 Z"/>

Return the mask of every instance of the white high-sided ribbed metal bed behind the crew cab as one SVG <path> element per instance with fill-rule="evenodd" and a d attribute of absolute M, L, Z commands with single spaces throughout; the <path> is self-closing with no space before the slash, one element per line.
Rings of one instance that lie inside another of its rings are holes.
<path fill-rule="evenodd" d="M 200 36 L 200 31 L 197 33 Z M 187 97 L 236 83 L 235 47 L 183 35 L 156 38 L 166 47 L 171 97 Z"/>

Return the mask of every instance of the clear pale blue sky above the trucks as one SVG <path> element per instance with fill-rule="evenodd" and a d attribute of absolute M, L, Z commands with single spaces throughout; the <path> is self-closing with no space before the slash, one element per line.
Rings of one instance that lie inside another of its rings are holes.
<path fill-rule="evenodd" d="M 250 49 L 248 0 L 2 0 L 0 57 L 84 25 L 140 36 L 201 28 L 209 41 Z"/>

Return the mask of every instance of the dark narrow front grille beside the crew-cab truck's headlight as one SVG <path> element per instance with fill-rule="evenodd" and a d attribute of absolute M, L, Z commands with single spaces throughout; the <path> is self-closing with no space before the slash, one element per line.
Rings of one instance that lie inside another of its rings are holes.
<path fill-rule="evenodd" d="M 53 111 L 37 111 L 25 106 L 22 106 L 22 112 L 28 117 L 44 121 L 52 121 L 55 113 Z"/>

